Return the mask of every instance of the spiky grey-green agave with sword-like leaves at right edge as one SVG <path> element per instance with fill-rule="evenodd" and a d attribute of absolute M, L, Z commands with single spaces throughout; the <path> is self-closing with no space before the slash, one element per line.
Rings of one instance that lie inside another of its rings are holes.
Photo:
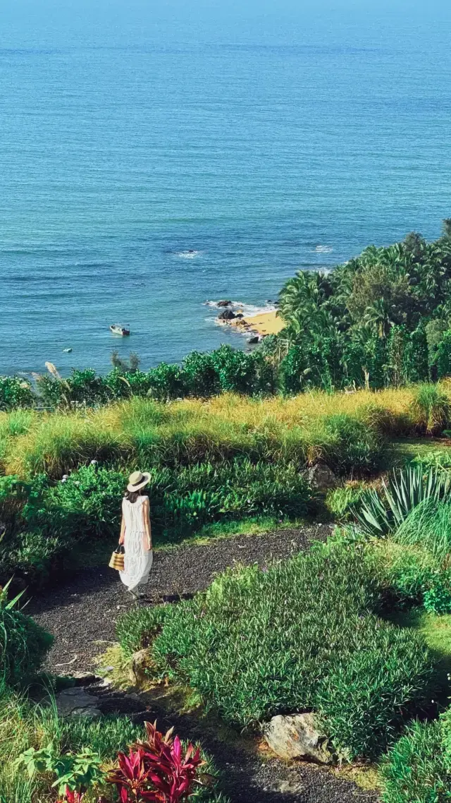
<path fill-rule="evenodd" d="M 385 536 L 400 527 L 413 507 L 429 499 L 449 494 L 451 475 L 437 469 L 425 472 L 422 466 L 394 471 L 381 491 L 372 488 L 352 511 L 364 532 Z"/>

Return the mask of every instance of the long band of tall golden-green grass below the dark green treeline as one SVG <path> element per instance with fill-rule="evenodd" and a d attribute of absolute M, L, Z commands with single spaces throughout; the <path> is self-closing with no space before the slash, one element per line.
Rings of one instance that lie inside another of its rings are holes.
<path fill-rule="evenodd" d="M 451 382 L 441 388 L 451 400 Z M 408 434 L 415 421 L 415 388 L 312 391 L 295 397 L 252 399 L 224 393 L 203 402 L 162 404 L 135 397 L 97 410 L 0 414 L 0 461 L 6 474 L 47 471 L 58 476 L 92 459 L 121 465 L 148 455 L 170 463 L 217 459 L 258 450 L 312 462 L 322 454 L 323 418 L 351 414 L 391 436 Z"/>

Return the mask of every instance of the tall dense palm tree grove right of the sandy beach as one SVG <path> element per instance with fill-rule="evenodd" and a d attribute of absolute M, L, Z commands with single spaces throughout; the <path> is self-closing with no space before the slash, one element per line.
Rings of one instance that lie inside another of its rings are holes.
<path fill-rule="evenodd" d="M 279 295 L 283 391 L 448 375 L 449 279 L 449 238 L 426 243 L 419 234 L 370 246 L 328 275 L 299 271 Z"/>

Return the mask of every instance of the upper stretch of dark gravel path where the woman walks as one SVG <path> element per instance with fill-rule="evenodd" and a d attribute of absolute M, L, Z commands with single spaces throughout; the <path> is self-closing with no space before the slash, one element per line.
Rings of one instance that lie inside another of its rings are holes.
<path fill-rule="evenodd" d="M 328 525 L 282 530 L 257 536 L 234 536 L 209 544 L 184 544 L 156 551 L 141 605 L 172 601 L 206 589 L 215 574 L 237 563 L 258 563 L 283 558 L 307 548 L 311 540 L 330 535 Z M 93 668 L 92 658 L 105 644 L 116 640 L 116 619 L 133 608 L 133 601 L 118 573 L 108 566 L 84 569 L 70 581 L 31 599 L 26 613 L 55 636 L 47 669 L 63 674 Z"/>

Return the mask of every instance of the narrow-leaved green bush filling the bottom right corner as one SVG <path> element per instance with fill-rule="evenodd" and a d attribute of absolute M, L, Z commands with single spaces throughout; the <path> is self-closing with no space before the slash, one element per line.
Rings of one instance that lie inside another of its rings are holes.
<path fill-rule="evenodd" d="M 445 803 L 451 778 L 440 722 L 416 722 L 401 736 L 381 765 L 384 803 Z"/>

